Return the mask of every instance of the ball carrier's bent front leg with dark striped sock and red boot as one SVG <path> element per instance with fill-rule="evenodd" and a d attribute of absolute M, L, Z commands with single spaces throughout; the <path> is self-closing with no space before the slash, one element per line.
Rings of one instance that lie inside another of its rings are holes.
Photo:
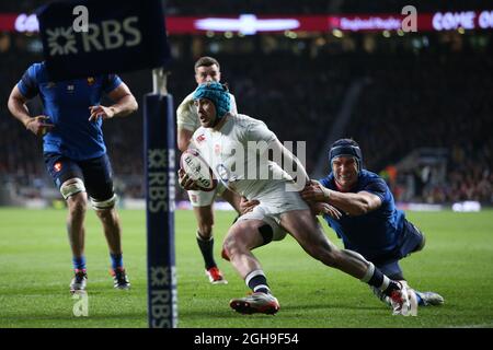
<path fill-rule="evenodd" d="M 277 299 L 271 294 L 267 279 L 252 249 L 264 244 L 260 228 L 262 220 L 243 220 L 234 223 L 223 243 L 223 256 L 229 258 L 240 277 L 253 293 L 245 298 L 232 299 L 229 305 L 242 314 L 275 314 L 279 310 Z"/>

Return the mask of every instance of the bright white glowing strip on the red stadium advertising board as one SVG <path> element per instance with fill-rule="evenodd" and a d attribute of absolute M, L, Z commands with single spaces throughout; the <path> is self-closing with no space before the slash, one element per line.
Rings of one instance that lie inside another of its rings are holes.
<path fill-rule="evenodd" d="M 279 32 L 296 30 L 300 25 L 295 19 L 260 20 L 254 14 L 241 14 L 238 19 L 208 18 L 195 21 L 195 27 L 203 31 L 239 32 L 253 35 L 256 32 Z"/>

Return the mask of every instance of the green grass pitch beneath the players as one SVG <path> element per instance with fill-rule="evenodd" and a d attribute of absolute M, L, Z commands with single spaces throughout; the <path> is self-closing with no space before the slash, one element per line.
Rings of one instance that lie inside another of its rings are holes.
<path fill-rule="evenodd" d="M 113 289 L 102 229 L 89 212 L 89 316 L 76 317 L 77 301 L 68 291 L 66 212 L 0 209 L 0 328 L 147 327 L 145 213 L 119 213 L 133 289 Z M 364 283 L 313 260 L 288 236 L 255 252 L 280 302 L 279 313 L 244 316 L 230 310 L 228 301 L 248 290 L 229 262 L 219 260 L 233 213 L 216 212 L 215 229 L 216 257 L 229 284 L 210 285 L 195 243 L 193 213 L 177 211 L 179 327 L 493 327 L 493 211 L 409 212 L 408 218 L 425 232 L 427 246 L 402 261 L 404 273 L 413 288 L 442 293 L 444 306 L 420 308 L 417 317 L 391 316 Z"/>

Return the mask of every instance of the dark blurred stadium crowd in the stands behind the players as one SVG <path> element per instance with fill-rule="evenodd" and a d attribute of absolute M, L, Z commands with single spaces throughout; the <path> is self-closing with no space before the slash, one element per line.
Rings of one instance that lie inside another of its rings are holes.
<path fill-rule="evenodd" d="M 194 12 L 198 7 L 192 5 L 196 1 L 168 2 L 172 14 L 198 14 Z M 207 7 L 207 2 L 200 1 L 200 11 L 244 11 L 234 8 L 238 1 L 230 1 L 228 9 Z M 246 2 L 257 7 L 259 13 L 278 9 L 266 7 L 267 1 Z M 381 9 L 372 9 L 370 2 L 343 1 L 342 5 L 352 3 L 358 11 Z M 326 7 L 328 1 L 310 1 L 311 12 L 326 12 Z M 302 4 L 290 10 L 308 13 Z M 36 40 L 32 35 L 0 33 L 0 186 L 14 184 L 18 194 L 34 198 L 41 196 L 42 188 L 54 186 L 45 174 L 41 141 L 9 115 L 7 98 L 24 70 L 42 59 Z M 175 106 L 195 88 L 195 59 L 214 56 L 221 65 L 222 81 L 237 97 L 239 112 L 265 120 L 282 141 L 307 141 L 311 172 L 317 162 L 328 163 L 324 141 L 351 86 L 359 82 L 363 88 L 339 137 L 353 137 L 360 143 L 367 168 L 386 176 L 398 200 L 493 203 L 491 34 L 392 34 L 387 38 L 376 33 L 297 39 L 283 35 L 232 39 L 180 36 L 170 40 L 175 60 L 168 86 Z M 141 96 L 151 91 L 151 75 L 140 71 L 122 77 L 140 98 L 140 110 L 106 122 L 105 139 L 119 194 L 141 198 Z M 30 108 L 42 112 L 36 101 Z M 445 150 L 440 151 L 443 166 L 400 165 L 423 148 Z"/>

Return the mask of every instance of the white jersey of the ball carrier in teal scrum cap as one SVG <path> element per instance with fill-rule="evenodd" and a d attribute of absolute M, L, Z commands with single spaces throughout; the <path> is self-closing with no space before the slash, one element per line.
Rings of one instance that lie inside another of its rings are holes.
<path fill-rule="evenodd" d="M 192 137 L 216 178 L 230 190 L 256 198 L 273 182 L 291 180 L 277 163 L 268 161 L 268 144 L 277 137 L 262 121 L 246 115 L 229 115 L 220 130 L 199 127 Z"/>

